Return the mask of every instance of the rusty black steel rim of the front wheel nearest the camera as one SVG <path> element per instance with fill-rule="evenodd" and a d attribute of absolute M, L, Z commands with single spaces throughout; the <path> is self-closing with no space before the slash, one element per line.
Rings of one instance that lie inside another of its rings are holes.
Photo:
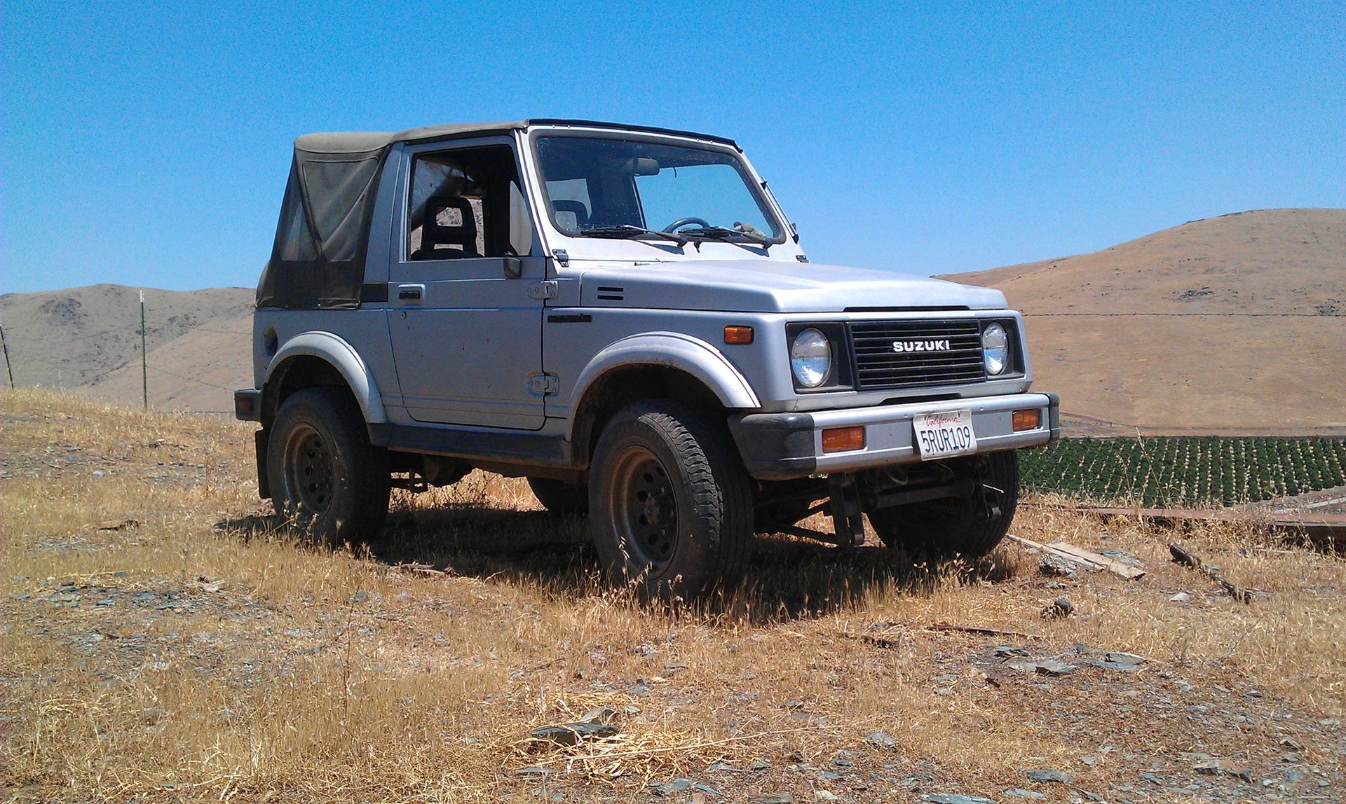
<path fill-rule="evenodd" d="M 608 495 L 627 565 L 661 574 L 677 553 L 678 536 L 677 496 L 664 464 L 643 446 L 627 446 L 614 461 Z"/>

